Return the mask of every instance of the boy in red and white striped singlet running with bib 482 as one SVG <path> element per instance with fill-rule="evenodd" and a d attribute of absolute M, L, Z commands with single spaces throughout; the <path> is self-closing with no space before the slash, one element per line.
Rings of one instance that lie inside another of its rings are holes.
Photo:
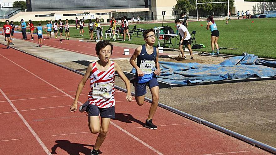
<path fill-rule="evenodd" d="M 88 110 L 89 129 L 91 133 L 99 133 L 95 146 L 91 151 L 91 155 L 99 154 L 98 150 L 104 142 L 108 132 L 110 118 L 115 118 L 115 71 L 117 71 L 121 79 L 125 82 L 127 89 L 126 101 L 130 102 L 132 100 L 130 81 L 126 78 L 120 66 L 116 62 L 109 60 L 112 49 L 113 45 L 107 40 L 103 40 L 96 44 L 96 54 L 99 60 L 88 65 L 86 73 L 77 87 L 75 100 L 70 107 L 71 112 L 77 110 L 78 98 L 86 81 L 90 78 L 91 90 L 88 95 L 89 105 L 87 105 L 88 102 L 86 102 L 80 106 L 79 110 L 81 112 L 86 111 L 86 109 Z M 101 121 L 99 119 L 99 114 L 101 116 Z"/>

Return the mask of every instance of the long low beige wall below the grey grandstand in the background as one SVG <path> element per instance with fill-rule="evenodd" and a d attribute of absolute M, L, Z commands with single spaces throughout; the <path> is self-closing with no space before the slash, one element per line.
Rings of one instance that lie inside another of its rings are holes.
<path fill-rule="evenodd" d="M 85 12 L 90 12 L 90 15 L 94 15 L 94 18 L 103 18 L 104 22 L 107 22 L 107 19 L 110 18 L 109 14 L 102 14 L 102 15 L 96 15 L 96 13 L 109 13 L 111 11 L 114 11 L 113 9 L 105 9 L 105 10 L 85 10 Z M 125 8 L 125 9 L 116 9 L 116 12 L 148 12 L 149 8 Z M 78 19 L 81 19 L 84 17 L 84 19 L 89 19 L 89 15 L 79 15 L 79 16 L 63 16 L 63 14 L 83 14 L 83 11 L 52 11 L 51 13 L 56 14 L 56 20 L 62 19 L 75 19 L 76 17 Z M 12 21 L 20 21 L 21 19 L 24 19 L 24 21 L 27 21 L 29 19 L 33 21 L 40 21 L 40 20 L 55 20 L 55 17 L 35 17 L 35 15 L 50 15 L 50 11 L 35 11 L 35 12 L 20 12 L 16 14 L 15 16 L 9 18 L 8 20 Z M 91 18 L 92 19 L 92 18 Z M 6 19 L 5 19 L 6 20 Z"/>

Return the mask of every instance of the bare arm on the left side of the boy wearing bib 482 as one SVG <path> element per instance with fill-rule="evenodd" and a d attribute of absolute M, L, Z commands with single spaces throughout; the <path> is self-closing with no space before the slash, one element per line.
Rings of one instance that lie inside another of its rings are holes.
<path fill-rule="evenodd" d="M 70 107 L 70 112 L 77 111 L 77 101 L 79 99 L 79 96 L 82 93 L 82 89 L 83 89 L 86 81 L 88 80 L 89 76 L 92 73 L 92 68 L 93 68 L 93 64 L 91 63 L 91 64 L 88 65 L 88 68 L 87 68 L 87 70 L 85 72 L 85 75 L 83 76 L 82 80 L 80 81 L 80 83 L 78 85 L 78 88 L 77 88 L 77 91 L 76 91 L 75 100 L 74 100 L 72 106 Z"/>

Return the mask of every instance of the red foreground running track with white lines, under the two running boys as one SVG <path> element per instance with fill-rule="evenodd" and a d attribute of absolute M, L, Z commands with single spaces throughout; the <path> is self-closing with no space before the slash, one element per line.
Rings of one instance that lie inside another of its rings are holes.
<path fill-rule="evenodd" d="M 97 135 L 85 113 L 70 113 L 82 76 L 0 45 L 0 149 L 3 154 L 90 154 Z M 89 85 L 80 101 L 87 100 Z M 126 102 L 115 91 L 116 119 L 102 154 L 265 155 L 270 154 L 214 129 L 157 108 L 157 130 L 143 127 L 150 103 Z"/>

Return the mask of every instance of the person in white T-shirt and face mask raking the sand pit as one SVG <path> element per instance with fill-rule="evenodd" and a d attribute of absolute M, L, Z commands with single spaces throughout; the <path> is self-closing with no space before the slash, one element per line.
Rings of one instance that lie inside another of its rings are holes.
<path fill-rule="evenodd" d="M 188 31 L 188 29 L 186 28 L 186 26 L 180 24 L 180 20 L 179 19 L 176 19 L 174 21 L 174 23 L 176 24 L 176 27 L 178 29 L 178 32 L 179 34 L 182 36 L 182 39 L 180 40 L 180 43 L 179 43 L 179 49 L 180 49 L 180 52 L 182 54 L 182 57 L 185 57 L 184 55 L 184 50 L 183 50 L 183 45 L 187 45 L 188 46 L 188 50 L 190 52 L 190 55 L 191 55 L 191 59 L 193 59 L 193 51 L 192 51 L 192 48 L 191 48 L 191 44 L 192 44 L 192 38 L 191 38 L 191 35 Z"/>

